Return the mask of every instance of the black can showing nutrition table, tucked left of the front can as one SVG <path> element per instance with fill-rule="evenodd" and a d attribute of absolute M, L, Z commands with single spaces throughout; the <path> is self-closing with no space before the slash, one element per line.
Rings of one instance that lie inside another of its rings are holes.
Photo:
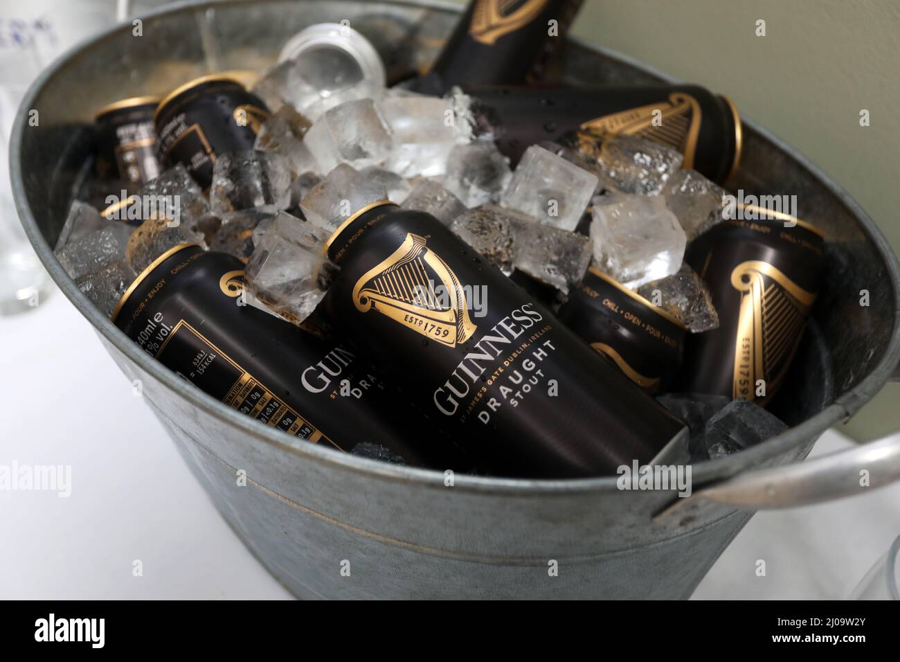
<path fill-rule="evenodd" d="M 446 464 L 453 449 L 430 443 L 428 422 L 352 351 L 240 305 L 243 277 L 238 258 L 176 246 L 130 285 L 112 322 L 179 376 L 270 427 L 347 452 L 367 444 L 410 465 L 454 467 Z"/>

